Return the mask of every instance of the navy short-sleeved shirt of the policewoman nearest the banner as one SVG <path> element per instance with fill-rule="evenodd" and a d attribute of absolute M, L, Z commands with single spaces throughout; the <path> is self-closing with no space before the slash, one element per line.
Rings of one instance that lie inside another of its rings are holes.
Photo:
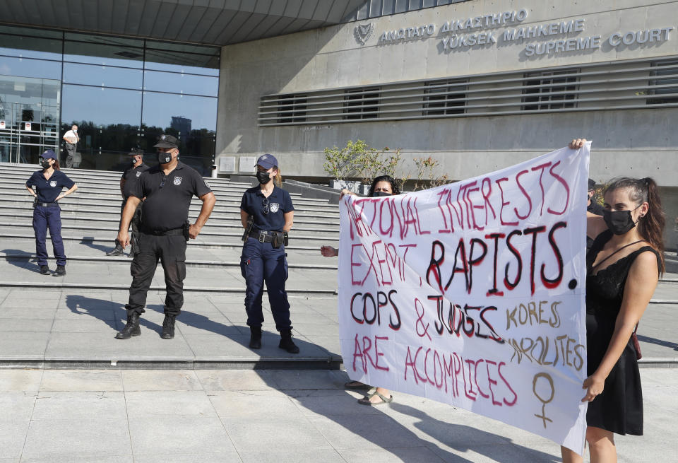
<path fill-rule="evenodd" d="M 268 199 L 268 213 L 266 211 Z M 261 193 L 261 187 L 247 189 L 242 195 L 240 209 L 254 216 L 254 227 L 266 231 L 282 231 L 285 226 L 286 212 L 294 211 L 290 193 L 282 188 L 273 187 L 273 193 L 268 198 Z"/>

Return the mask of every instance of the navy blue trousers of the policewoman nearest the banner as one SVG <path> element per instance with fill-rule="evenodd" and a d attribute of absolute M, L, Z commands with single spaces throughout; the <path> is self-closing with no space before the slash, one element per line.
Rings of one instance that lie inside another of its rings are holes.
<path fill-rule="evenodd" d="M 263 312 L 261 298 L 263 283 L 266 283 L 268 303 L 273 312 L 275 329 L 283 331 L 292 329 L 290 322 L 290 303 L 287 302 L 285 281 L 287 280 L 287 259 L 285 247 L 275 249 L 270 242 L 258 242 L 254 238 L 247 238 L 242 247 L 240 270 L 245 279 L 245 310 L 247 324 L 250 327 L 261 327 Z"/>

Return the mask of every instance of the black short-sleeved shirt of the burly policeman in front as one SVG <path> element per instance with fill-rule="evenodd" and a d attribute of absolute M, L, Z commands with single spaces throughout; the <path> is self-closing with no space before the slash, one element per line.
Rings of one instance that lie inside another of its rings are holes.
<path fill-rule="evenodd" d="M 145 197 L 141 230 L 149 232 L 181 228 L 189 218 L 191 199 L 211 192 L 197 170 L 179 161 L 167 176 L 160 165 L 143 172 L 134 182 L 130 196 Z"/>

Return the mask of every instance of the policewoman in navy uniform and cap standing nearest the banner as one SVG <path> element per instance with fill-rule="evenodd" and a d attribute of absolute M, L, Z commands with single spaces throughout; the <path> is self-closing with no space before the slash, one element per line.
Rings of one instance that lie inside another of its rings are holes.
<path fill-rule="evenodd" d="M 245 309 L 251 332 L 249 347 L 261 348 L 261 297 L 266 281 L 275 329 L 280 332 L 278 347 L 289 353 L 299 353 L 299 348 L 292 341 L 290 304 L 285 292 L 287 260 L 284 240 L 287 233 L 283 235 L 283 232 L 292 229 L 295 207 L 290 194 L 280 188 L 282 179 L 274 156 L 265 154 L 258 158 L 256 170 L 259 185 L 246 190 L 240 202 L 242 226 L 249 230 L 243 237 L 240 258 L 240 269 L 247 285 Z"/>

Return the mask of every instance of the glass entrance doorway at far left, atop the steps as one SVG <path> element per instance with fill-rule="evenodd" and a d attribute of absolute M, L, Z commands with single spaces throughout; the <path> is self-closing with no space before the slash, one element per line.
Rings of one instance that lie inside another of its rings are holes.
<path fill-rule="evenodd" d="M 0 76 L 0 162 L 35 164 L 46 149 L 59 153 L 60 83 Z"/>

